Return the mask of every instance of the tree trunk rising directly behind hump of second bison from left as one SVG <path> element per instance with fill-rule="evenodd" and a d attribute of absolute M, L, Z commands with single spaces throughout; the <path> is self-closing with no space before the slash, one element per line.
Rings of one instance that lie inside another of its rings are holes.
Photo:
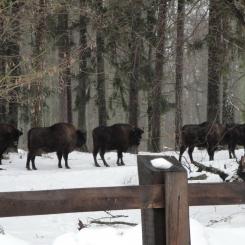
<path fill-rule="evenodd" d="M 72 123 L 72 95 L 70 70 L 70 32 L 68 30 L 68 11 L 62 6 L 58 14 L 58 52 L 60 86 L 60 120 Z"/>

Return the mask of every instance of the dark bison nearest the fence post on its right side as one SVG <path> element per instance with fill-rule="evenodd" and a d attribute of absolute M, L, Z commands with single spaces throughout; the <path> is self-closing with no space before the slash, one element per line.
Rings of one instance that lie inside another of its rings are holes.
<path fill-rule="evenodd" d="M 203 122 L 201 124 L 189 124 L 182 127 L 179 161 L 188 148 L 188 154 L 193 162 L 192 153 L 195 147 L 205 147 L 209 160 L 214 160 L 214 152 L 218 145 L 226 144 L 226 126 L 219 123 Z"/>

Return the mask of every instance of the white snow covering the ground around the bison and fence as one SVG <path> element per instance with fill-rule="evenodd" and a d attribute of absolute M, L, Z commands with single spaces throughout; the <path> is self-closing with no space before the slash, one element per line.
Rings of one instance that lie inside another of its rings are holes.
<path fill-rule="evenodd" d="M 238 157 L 243 150 L 238 150 Z M 149 154 L 149 153 L 140 153 Z M 174 155 L 175 152 L 164 152 Z M 55 154 L 47 154 L 36 158 L 38 171 L 25 169 L 26 152 L 9 154 L 3 160 L 0 171 L 0 191 L 46 190 L 61 188 L 80 188 L 95 186 L 137 185 L 136 155 L 124 154 L 126 166 L 116 166 L 116 153 L 106 153 L 110 168 L 96 168 L 92 154 L 73 152 L 69 155 L 71 169 L 58 169 Z M 232 174 L 236 168 L 235 160 L 228 159 L 227 151 L 215 154 L 215 161 L 209 162 L 206 151 L 194 151 L 194 159 L 204 164 L 211 164 Z M 187 153 L 183 161 L 189 161 Z M 102 166 L 102 163 L 100 161 Z M 190 175 L 195 175 L 194 171 Z M 207 174 L 204 182 L 221 182 L 213 174 Z M 56 214 L 27 217 L 0 218 L 1 245 L 141 245 L 141 220 L 139 210 L 113 211 L 111 215 L 127 217 L 113 218 L 105 212 Z M 106 218 L 105 218 L 106 217 Z M 191 239 L 192 245 L 230 245 L 245 244 L 245 206 L 209 206 L 191 207 Z M 95 219 L 126 221 L 137 223 L 135 227 L 117 225 L 107 227 L 90 224 Z M 78 231 L 78 220 L 89 224 Z"/>

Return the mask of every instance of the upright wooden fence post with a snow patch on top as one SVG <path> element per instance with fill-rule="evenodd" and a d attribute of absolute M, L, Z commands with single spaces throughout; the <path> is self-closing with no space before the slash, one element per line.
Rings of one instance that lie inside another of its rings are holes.
<path fill-rule="evenodd" d="M 151 160 L 163 158 L 168 169 L 155 168 Z M 187 174 L 175 157 L 138 155 L 140 185 L 164 184 L 164 208 L 141 210 L 143 245 L 190 245 Z"/>

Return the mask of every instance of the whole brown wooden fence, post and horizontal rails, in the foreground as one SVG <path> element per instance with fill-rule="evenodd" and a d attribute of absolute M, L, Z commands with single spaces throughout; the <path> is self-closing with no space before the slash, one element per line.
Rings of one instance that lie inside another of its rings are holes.
<path fill-rule="evenodd" d="M 0 217 L 141 209 L 143 245 L 189 245 L 189 206 L 245 203 L 245 184 L 188 184 L 185 169 L 156 169 L 138 156 L 139 186 L 0 192 Z"/>

